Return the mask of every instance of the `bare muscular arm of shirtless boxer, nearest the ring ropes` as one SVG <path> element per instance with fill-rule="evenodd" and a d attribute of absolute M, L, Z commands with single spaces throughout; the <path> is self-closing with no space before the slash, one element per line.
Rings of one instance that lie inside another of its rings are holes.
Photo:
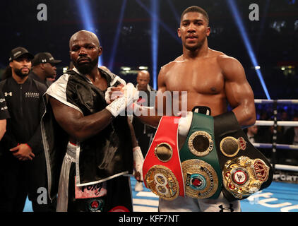
<path fill-rule="evenodd" d="M 256 122 L 254 93 L 246 80 L 242 65 L 232 57 L 220 56 L 218 62 L 225 77 L 225 95 L 240 126 Z"/>

